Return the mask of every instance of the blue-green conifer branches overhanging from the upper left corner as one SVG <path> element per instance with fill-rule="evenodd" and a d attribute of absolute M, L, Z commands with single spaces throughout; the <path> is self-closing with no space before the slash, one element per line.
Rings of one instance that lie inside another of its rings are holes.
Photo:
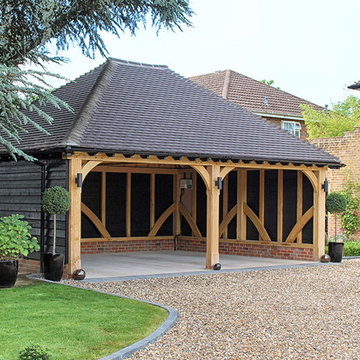
<path fill-rule="evenodd" d="M 24 115 L 35 111 L 52 121 L 44 105 L 69 107 L 49 91 L 46 72 L 49 62 L 64 58 L 51 56 L 48 45 L 57 50 L 79 46 L 94 58 L 97 51 L 107 54 L 103 32 L 120 36 L 136 33 L 139 24 L 151 22 L 157 30 L 180 29 L 191 25 L 188 0 L 0 0 L 0 144 L 14 157 L 32 158 L 17 148 L 28 126 L 46 132 Z M 25 70 L 32 66 L 41 70 Z M 41 85 L 36 85 L 40 82 Z M 36 99 L 36 101 L 34 101 Z"/>

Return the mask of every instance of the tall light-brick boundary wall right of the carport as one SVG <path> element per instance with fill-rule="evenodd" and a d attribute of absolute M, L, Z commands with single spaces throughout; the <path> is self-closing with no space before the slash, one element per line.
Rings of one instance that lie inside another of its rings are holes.
<path fill-rule="evenodd" d="M 346 164 L 345 168 L 328 170 L 327 179 L 330 192 L 342 190 L 349 176 L 360 181 L 360 127 L 356 127 L 354 131 L 346 132 L 344 136 L 310 139 L 309 142 L 335 155 L 342 163 Z M 335 228 L 333 215 L 329 214 L 328 223 L 329 236 L 331 237 L 334 235 Z M 338 229 L 340 229 L 340 219 L 338 219 Z M 360 239 L 360 233 L 356 234 L 355 237 Z"/>

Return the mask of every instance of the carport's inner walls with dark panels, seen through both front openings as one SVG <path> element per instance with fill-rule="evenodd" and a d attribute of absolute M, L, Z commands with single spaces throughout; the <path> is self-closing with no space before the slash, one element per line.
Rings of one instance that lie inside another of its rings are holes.
<path fill-rule="evenodd" d="M 83 183 L 81 253 L 206 252 L 207 191 L 189 166 L 102 163 Z M 302 170 L 233 169 L 219 191 L 219 252 L 313 260 L 314 200 Z"/>

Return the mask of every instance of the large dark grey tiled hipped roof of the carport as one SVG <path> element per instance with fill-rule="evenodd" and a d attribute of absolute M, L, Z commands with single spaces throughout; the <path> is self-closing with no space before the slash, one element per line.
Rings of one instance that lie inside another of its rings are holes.
<path fill-rule="evenodd" d="M 21 149 L 112 151 L 340 166 L 334 156 L 222 99 L 166 66 L 108 61 L 55 91 L 74 112 L 36 114 L 51 136 L 29 129 Z"/>

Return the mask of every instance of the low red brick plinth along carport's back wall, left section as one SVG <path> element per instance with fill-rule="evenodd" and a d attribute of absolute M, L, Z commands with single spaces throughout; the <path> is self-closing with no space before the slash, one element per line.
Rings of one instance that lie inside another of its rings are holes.
<path fill-rule="evenodd" d="M 173 239 L 82 242 L 82 254 L 174 250 Z"/>

